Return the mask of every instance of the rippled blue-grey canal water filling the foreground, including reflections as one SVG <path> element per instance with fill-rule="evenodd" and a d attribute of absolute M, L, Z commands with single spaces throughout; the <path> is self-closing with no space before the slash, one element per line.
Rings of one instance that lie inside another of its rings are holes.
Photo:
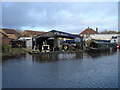
<path fill-rule="evenodd" d="M 118 88 L 119 51 L 21 55 L 3 60 L 3 88 Z"/>

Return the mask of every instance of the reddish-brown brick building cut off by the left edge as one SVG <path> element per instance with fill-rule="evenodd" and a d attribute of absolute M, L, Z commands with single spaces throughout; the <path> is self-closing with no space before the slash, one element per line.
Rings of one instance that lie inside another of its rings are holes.
<path fill-rule="evenodd" d="M 4 33 L 0 32 L 0 41 L 1 45 L 9 45 L 11 39 Z"/>

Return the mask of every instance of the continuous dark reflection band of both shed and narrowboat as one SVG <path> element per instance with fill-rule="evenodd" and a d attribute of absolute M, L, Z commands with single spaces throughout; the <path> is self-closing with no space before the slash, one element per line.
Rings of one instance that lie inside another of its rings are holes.
<path fill-rule="evenodd" d="M 49 53 L 49 54 L 37 54 L 32 55 L 32 60 L 39 62 L 39 63 L 46 63 L 46 62 L 56 62 L 60 60 L 80 60 L 83 59 L 84 56 L 87 58 L 100 58 L 102 56 L 108 56 L 114 54 L 116 51 L 104 51 L 104 52 L 74 52 L 74 53 Z"/>

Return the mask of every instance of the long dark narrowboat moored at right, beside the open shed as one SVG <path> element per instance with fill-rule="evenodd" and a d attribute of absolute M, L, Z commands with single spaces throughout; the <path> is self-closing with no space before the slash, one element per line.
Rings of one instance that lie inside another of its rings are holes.
<path fill-rule="evenodd" d="M 110 42 L 91 42 L 90 47 L 88 50 L 94 50 L 94 51 L 103 51 L 103 50 L 116 50 L 116 43 L 110 43 Z"/>

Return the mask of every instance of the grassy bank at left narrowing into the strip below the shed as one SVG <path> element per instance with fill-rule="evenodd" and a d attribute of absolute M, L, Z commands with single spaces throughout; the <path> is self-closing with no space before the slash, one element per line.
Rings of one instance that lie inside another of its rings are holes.
<path fill-rule="evenodd" d="M 84 50 L 39 52 L 38 50 L 32 50 L 29 48 L 10 48 L 2 51 L 2 59 L 17 57 L 26 53 L 33 55 L 33 54 L 55 54 L 55 53 L 75 53 L 75 52 L 84 52 Z"/>

